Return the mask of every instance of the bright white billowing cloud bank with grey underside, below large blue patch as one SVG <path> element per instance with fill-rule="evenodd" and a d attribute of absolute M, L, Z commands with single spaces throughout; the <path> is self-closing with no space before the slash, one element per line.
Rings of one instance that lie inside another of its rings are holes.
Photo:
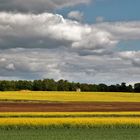
<path fill-rule="evenodd" d="M 108 49 L 120 41 L 139 40 L 140 22 L 93 25 L 64 19 L 61 15 L 0 12 L 0 48 Z"/>

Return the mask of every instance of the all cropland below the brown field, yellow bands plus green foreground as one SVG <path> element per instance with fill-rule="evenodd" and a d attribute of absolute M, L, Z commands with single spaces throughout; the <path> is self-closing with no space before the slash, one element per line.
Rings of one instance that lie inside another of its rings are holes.
<path fill-rule="evenodd" d="M 0 113 L 3 140 L 139 140 L 140 112 Z"/>

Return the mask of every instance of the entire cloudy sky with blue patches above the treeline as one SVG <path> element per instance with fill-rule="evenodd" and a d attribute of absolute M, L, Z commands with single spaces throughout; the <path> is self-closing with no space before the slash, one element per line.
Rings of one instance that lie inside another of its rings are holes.
<path fill-rule="evenodd" d="M 140 0 L 0 0 L 0 80 L 140 82 Z"/>

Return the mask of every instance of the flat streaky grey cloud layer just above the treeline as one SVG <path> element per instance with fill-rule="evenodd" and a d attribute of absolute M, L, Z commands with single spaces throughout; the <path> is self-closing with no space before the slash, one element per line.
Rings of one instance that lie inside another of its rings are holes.
<path fill-rule="evenodd" d="M 132 83 L 138 81 L 140 71 L 131 62 L 117 52 L 80 56 L 64 48 L 7 49 L 0 52 L 0 79 L 63 78 L 89 83 Z"/>

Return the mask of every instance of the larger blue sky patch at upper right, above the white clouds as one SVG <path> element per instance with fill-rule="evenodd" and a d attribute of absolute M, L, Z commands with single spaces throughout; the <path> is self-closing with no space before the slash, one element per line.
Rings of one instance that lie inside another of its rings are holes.
<path fill-rule="evenodd" d="M 84 12 L 86 23 L 92 24 L 96 17 L 102 16 L 105 21 L 131 21 L 140 19 L 139 0 L 92 0 L 88 5 L 79 5 L 57 10 L 66 16 L 68 12 L 79 10 Z"/>

